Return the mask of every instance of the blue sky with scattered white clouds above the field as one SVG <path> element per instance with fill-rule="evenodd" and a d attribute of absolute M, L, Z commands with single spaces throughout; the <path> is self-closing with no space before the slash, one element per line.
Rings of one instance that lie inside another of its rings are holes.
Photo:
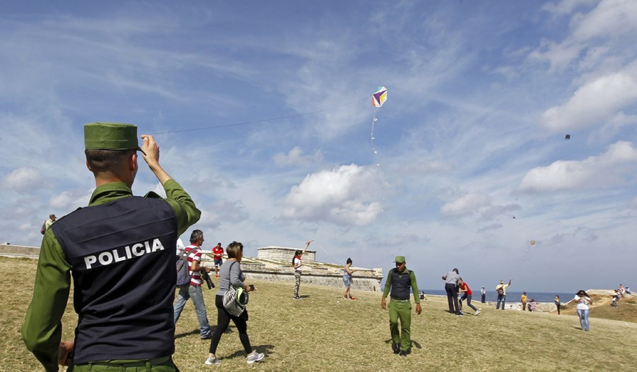
<path fill-rule="evenodd" d="M 211 245 L 637 286 L 636 31 L 630 0 L 2 3 L 0 241 L 86 205 L 83 124 L 120 121 Z"/>

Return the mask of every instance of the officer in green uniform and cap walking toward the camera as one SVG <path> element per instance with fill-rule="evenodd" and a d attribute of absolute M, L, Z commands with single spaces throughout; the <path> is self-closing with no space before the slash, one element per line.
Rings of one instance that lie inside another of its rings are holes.
<path fill-rule="evenodd" d="M 413 299 L 416 302 L 416 313 L 420 315 L 420 297 L 416 276 L 411 270 L 407 270 L 404 256 L 396 256 L 396 268 L 391 269 L 385 280 L 385 290 L 380 306 L 387 308 L 385 297 L 390 294 L 389 300 L 389 331 L 392 334 L 392 350 L 395 354 L 406 357 L 412 351 L 411 325 L 412 325 L 412 301 L 409 288 L 412 288 Z M 400 319 L 401 329 L 398 330 Z"/>

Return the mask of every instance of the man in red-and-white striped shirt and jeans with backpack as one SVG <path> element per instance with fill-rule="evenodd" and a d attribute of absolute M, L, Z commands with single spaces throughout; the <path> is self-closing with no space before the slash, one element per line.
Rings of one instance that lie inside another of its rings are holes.
<path fill-rule="evenodd" d="M 183 306 L 189 298 L 195 306 L 195 312 L 199 319 L 199 336 L 201 339 L 212 338 L 210 324 L 208 324 L 208 313 L 206 313 L 206 304 L 203 301 L 203 293 L 201 292 L 201 272 L 210 272 L 210 267 L 201 265 L 201 244 L 203 244 L 203 232 L 201 230 L 193 230 L 190 234 L 190 245 L 183 251 L 188 255 L 188 269 L 190 272 L 190 285 L 180 286 L 175 302 L 175 324 L 182 314 Z"/>

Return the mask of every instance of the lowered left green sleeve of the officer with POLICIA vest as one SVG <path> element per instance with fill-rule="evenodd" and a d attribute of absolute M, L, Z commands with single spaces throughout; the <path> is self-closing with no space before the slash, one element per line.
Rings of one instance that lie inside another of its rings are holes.
<path fill-rule="evenodd" d="M 52 230 L 45 233 L 38 260 L 33 299 L 22 326 L 22 339 L 47 372 L 58 371 L 57 348 L 62 315 L 69 299 L 71 265 Z"/>

